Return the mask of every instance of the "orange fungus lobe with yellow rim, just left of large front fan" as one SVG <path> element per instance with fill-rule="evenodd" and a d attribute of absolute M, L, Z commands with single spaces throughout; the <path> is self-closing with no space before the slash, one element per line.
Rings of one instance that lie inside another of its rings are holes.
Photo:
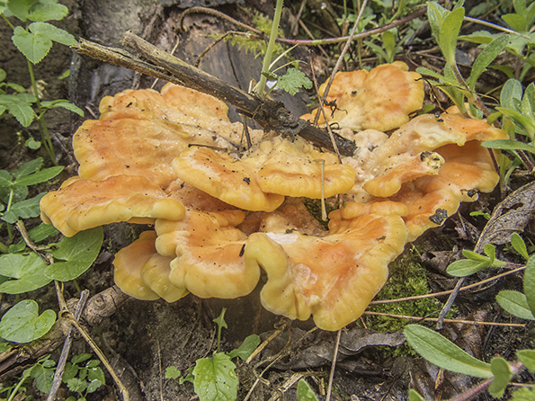
<path fill-rule="evenodd" d="M 156 249 L 174 257 L 169 280 L 201 298 L 233 299 L 254 290 L 257 265 L 245 263 L 242 210 L 188 210 L 182 221 L 156 220 Z"/>

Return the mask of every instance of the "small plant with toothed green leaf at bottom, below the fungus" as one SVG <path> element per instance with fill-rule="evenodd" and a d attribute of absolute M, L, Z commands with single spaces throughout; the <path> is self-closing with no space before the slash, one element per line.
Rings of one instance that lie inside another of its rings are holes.
<path fill-rule="evenodd" d="M 193 383 L 195 394 L 201 401 L 234 401 L 237 397 L 238 379 L 236 365 L 232 361 L 240 358 L 245 361 L 260 344 L 260 337 L 256 334 L 247 336 L 244 342 L 231 352 L 219 352 L 221 342 L 221 330 L 227 328 L 225 312 L 223 308 L 214 322 L 218 325 L 218 346 L 212 356 L 201 358 L 195 362 L 195 366 L 189 370 L 188 375 L 180 379 L 181 384 L 185 381 Z M 180 370 L 170 366 L 165 370 L 165 378 L 176 379 L 180 376 Z"/>

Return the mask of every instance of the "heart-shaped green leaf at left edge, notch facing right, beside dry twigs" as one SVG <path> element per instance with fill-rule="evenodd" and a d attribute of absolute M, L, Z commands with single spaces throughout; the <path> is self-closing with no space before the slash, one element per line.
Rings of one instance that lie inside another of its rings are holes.
<path fill-rule="evenodd" d="M 9 309 L 0 321 L 0 337 L 13 343 L 30 343 L 47 334 L 56 322 L 56 313 L 47 309 L 39 315 L 33 299 L 24 299 Z"/>

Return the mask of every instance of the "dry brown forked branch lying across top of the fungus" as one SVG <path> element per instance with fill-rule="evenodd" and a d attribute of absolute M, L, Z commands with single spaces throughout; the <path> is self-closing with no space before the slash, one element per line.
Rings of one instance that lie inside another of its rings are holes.
<path fill-rule="evenodd" d="M 273 129 L 282 135 L 302 138 L 314 143 L 318 147 L 334 150 L 331 139 L 322 129 L 310 125 L 308 121 L 300 120 L 288 111 L 281 102 L 271 99 L 260 99 L 247 94 L 235 86 L 215 76 L 210 76 L 199 68 L 192 67 L 180 58 L 175 58 L 156 46 L 139 38 L 132 32 L 127 32 L 123 43 L 134 49 L 142 58 L 133 56 L 122 49 L 107 48 L 89 40 L 80 40 L 73 46 L 78 53 L 85 54 L 121 67 L 127 67 L 148 76 L 155 76 L 175 84 L 185 85 L 204 94 L 210 94 L 223 102 L 228 102 L 247 117 L 256 120 L 263 129 Z M 350 140 L 335 136 L 336 146 L 343 156 L 352 156 L 356 147 Z"/>

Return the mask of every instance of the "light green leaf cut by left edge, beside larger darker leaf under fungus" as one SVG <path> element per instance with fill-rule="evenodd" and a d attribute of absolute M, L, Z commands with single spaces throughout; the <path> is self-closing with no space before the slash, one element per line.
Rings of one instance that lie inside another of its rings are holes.
<path fill-rule="evenodd" d="M 47 264 L 38 254 L 4 254 L 0 256 L 0 274 L 13 280 L 0 284 L 0 292 L 21 294 L 47 285 L 51 279 L 44 275 Z"/>

